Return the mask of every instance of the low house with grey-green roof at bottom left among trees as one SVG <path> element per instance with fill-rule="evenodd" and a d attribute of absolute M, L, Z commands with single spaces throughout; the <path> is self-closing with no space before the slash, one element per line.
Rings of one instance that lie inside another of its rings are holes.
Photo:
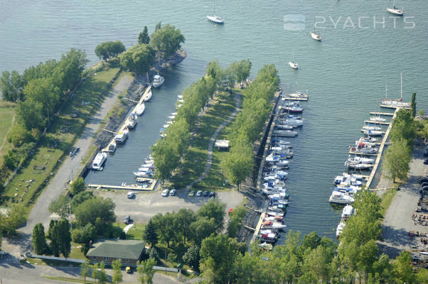
<path fill-rule="evenodd" d="M 105 239 L 92 244 L 86 257 L 92 263 L 104 261 L 106 265 L 120 258 L 123 266 L 137 267 L 137 261 L 141 260 L 144 246 L 144 241 L 139 240 Z"/>

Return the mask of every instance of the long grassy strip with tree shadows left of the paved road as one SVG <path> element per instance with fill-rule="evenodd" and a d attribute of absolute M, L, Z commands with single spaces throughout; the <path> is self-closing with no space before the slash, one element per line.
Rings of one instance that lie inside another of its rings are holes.
<path fill-rule="evenodd" d="M 55 120 L 55 124 L 50 126 L 49 133 L 34 151 L 33 158 L 27 160 L 6 187 L 6 200 L 27 204 L 35 199 L 38 190 L 43 188 L 48 178 L 53 175 L 55 166 L 60 165 L 58 160 L 67 155 L 75 139 L 85 129 L 85 124 L 100 108 L 110 88 L 109 81 L 117 72 L 119 68 L 97 72 L 92 79 L 85 80 L 80 85 L 73 102 L 62 109 L 61 115 Z M 72 119 L 70 114 L 77 114 L 77 118 Z"/>

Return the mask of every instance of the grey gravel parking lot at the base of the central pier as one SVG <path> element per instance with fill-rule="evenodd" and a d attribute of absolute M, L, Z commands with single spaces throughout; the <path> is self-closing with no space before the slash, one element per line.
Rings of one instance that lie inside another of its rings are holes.
<path fill-rule="evenodd" d="M 185 190 L 177 190 L 174 196 L 168 195 L 162 197 L 161 190 L 154 192 L 139 192 L 134 191 L 135 197 L 129 199 L 127 190 L 117 190 L 106 192 L 104 190 L 94 190 L 95 195 L 112 198 L 116 208 L 114 212 L 117 215 L 117 220 L 123 222 L 125 216 L 131 216 L 134 223 L 147 223 L 149 219 L 158 213 L 177 212 L 181 208 L 192 209 L 197 211 L 200 206 L 209 200 L 209 197 L 188 197 L 188 192 Z M 244 195 L 236 190 L 218 192 L 216 198 L 219 198 L 226 204 L 225 210 L 228 212 L 230 208 L 235 208 L 242 204 Z"/>

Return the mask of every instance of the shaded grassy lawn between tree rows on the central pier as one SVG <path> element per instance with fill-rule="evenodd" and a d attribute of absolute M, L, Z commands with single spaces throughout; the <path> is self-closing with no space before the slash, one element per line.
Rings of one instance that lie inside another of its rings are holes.
<path fill-rule="evenodd" d="M 186 187 L 193 180 L 202 175 L 205 170 L 206 159 L 208 157 L 208 146 L 210 138 L 220 124 L 228 119 L 228 116 L 235 110 L 234 94 L 220 94 L 218 101 L 208 109 L 205 115 L 200 119 L 200 126 L 193 136 L 191 146 L 184 157 L 183 163 L 171 178 L 171 186 L 181 189 Z M 228 126 L 232 125 L 232 121 Z M 228 134 L 228 127 L 220 131 L 216 139 L 223 139 Z M 213 164 L 208 176 L 198 183 L 197 189 L 218 190 L 220 188 L 229 188 L 224 185 L 225 178 L 220 169 L 220 161 L 228 152 L 220 152 L 213 149 Z"/>

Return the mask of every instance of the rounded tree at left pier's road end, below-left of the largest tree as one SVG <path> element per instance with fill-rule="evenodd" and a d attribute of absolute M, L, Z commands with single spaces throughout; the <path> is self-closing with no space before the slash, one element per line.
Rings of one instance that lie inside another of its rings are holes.
<path fill-rule="evenodd" d="M 150 45 L 134 45 L 127 51 L 119 55 L 120 65 L 127 70 L 144 74 L 149 72 L 154 62 L 154 50 Z"/>

